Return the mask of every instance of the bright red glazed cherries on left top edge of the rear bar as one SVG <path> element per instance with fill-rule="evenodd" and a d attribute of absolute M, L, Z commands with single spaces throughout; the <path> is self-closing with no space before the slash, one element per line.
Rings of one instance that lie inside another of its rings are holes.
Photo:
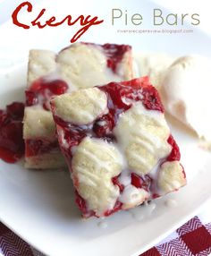
<path fill-rule="evenodd" d="M 49 100 L 55 95 L 61 95 L 68 90 L 68 84 L 62 80 L 46 81 L 41 78 L 34 81 L 29 90 L 25 91 L 26 106 L 42 105 L 50 110 Z"/>

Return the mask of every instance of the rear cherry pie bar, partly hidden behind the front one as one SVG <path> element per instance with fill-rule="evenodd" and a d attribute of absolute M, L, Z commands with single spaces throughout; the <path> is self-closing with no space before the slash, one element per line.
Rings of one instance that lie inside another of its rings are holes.
<path fill-rule="evenodd" d="M 49 101 L 56 95 L 132 78 L 131 47 L 76 43 L 59 54 L 31 50 L 23 120 L 28 168 L 65 166 Z"/>

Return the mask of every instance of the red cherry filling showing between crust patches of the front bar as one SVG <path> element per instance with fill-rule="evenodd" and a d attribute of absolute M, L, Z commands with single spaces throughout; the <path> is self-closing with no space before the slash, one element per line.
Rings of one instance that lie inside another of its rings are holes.
<path fill-rule="evenodd" d="M 134 79 L 132 81 L 122 81 L 120 83 L 111 82 L 105 86 L 97 87 L 99 90 L 103 90 L 108 98 L 107 107 L 108 113 L 99 117 L 93 124 L 88 125 L 74 125 L 68 122 L 64 122 L 58 116 L 54 116 L 55 123 L 63 128 L 64 139 L 67 141 L 69 148 L 64 149 L 62 147 L 63 153 L 68 160 L 68 164 L 71 169 L 72 162 L 72 147 L 80 144 L 83 138 L 87 134 L 92 134 L 94 138 L 100 138 L 104 141 L 112 142 L 116 141 L 116 138 L 113 134 L 113 129 L 118 120 L 118 116 L 123 112 L 131 108 L 131 105 L 124 103 L 124 98 L 141 101 L 142 104 L 149 110 L 156 110 L 164 113 L 164 107 L 160 100 L 157 90 L 149 85 L 148 77 L 143 77 L 141 79 Z M 52 105 L 54 112 L 54 105 Z M 102 123 L 103 122 L 103 123 Z M 103 125 L 102 125 L 103 124 Z M 170 135 L 167 142 L 172 146 L 172 151 L 169 156 L 163 160 L 162 164 L 165 161 L 174 161 L 180 160 L 180 150 L 176 142 L 173 140 L 173 136 Z M 112 179 L 114 185 L 119 187 L 120 193 L 124 190 L 124 185 L 120 183 L 119 176 L 115 176 Z M 147 192 L 152 191 L 153 178 L 150 175 L 139 176 L 135 173 L 131 173 L 131 184 L 136 188 L 143 188 Z M 74 184 L 76 187 L 76 203 L 78 204 L 80 211 L 82 212 L 83 217 L 89 218 L 91 216 L 96 216 L 93 210 L 89 210 L 86 201 L 80 196 L 77 192 L 77 183 Z M 159 194 L 152 193 L 151 199 L 159 197 Z M 104 216 L 109 216 L 115 211 L 122 209 L 122 202 L 116 201 L 114 209 L 108 210 L 104 213 Z M 96 216 L 97 217 L 97 216 Z"/>

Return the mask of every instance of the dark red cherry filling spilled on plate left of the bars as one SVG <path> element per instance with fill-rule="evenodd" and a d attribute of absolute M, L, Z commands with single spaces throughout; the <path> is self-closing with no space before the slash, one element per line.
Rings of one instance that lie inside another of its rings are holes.
<path fill-rule="evenodd" d="M 5 110 L 0 110 L 0 158 L 15 163 L 24 154 L 22 139 L 22 119 L 24 104 L 13 102 Z"/>

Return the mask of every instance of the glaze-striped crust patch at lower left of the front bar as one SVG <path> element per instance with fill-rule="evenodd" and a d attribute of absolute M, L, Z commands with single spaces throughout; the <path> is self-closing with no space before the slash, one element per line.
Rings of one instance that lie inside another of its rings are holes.
<path fill-rule="evenodd" d="M 72 179 L 88 208 L 102 215 L 113 209 L 120 192 L 112 178 L 122 170 L 122 156 L 111 144 L 86 137 L 72 157 Z"/>

